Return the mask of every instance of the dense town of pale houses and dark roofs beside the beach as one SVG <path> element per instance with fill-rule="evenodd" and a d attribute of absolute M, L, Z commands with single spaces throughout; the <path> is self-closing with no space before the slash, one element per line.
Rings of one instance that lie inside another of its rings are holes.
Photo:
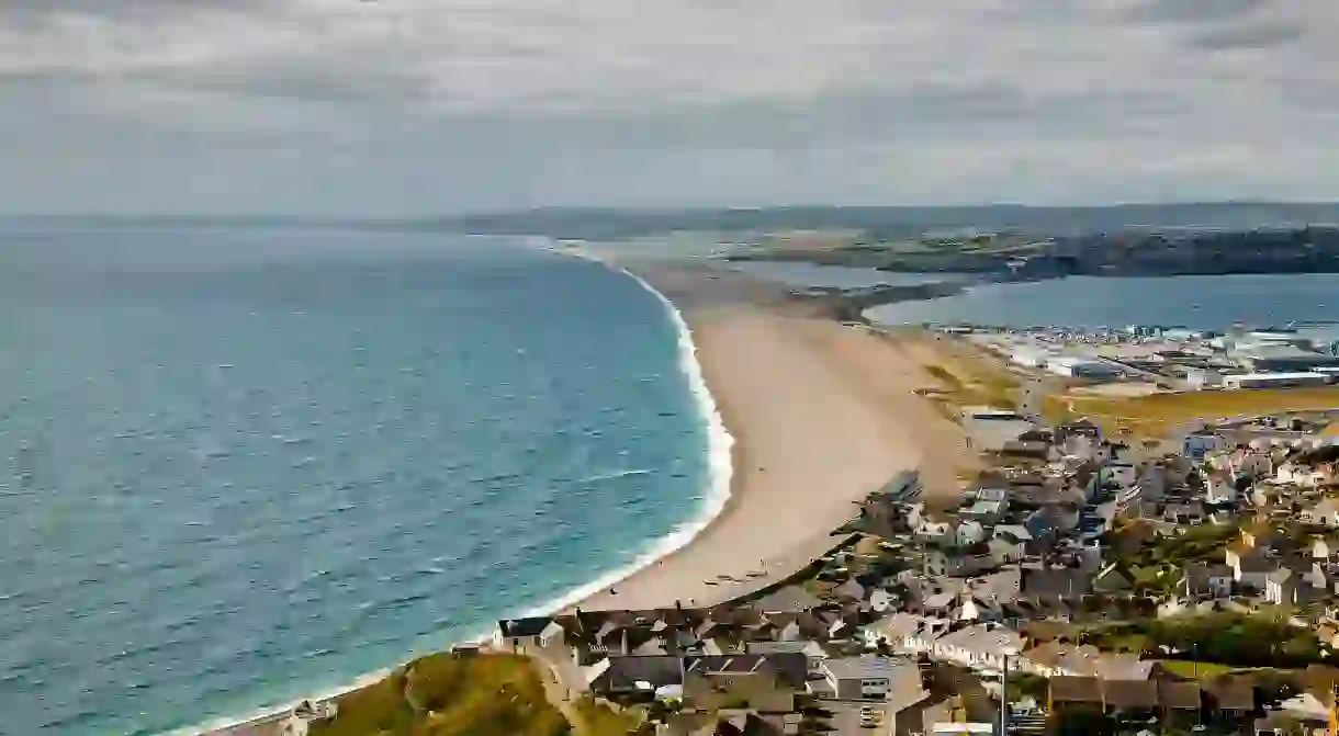
<path fill-rule="evenodd" d="M 952 509 L 893 479 L 802 574 L 714 608 L 505 620 L 481 646 L 645 733 L 1304 733 L 1339 669 L 1327 415 L 1176 447 L 968 409 L 991 468 Z"/>

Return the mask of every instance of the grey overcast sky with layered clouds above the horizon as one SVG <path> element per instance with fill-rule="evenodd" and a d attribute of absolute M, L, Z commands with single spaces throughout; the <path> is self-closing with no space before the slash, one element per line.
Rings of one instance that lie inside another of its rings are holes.
<path fill-rule="evenodd" d="M 0 0 L 0 213 L 1339 199 L 1335 0 Z"/>

